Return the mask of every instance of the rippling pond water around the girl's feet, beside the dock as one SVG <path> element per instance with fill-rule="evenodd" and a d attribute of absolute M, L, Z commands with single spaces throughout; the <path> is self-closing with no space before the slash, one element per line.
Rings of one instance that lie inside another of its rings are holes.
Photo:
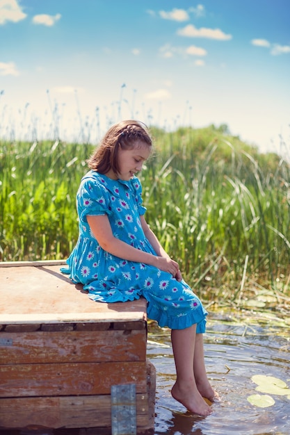
<path fill-rule="evenodd" d="M 257 394 L 253 375 L 282 379 L 290 386 L 289 332 L 271 336 L 260 327 L 210 323 L 204 336 L 211 384 L 220 395 L 207 417 L 193 416 L 174 399 L 175 364 L 166 329 L 150 328 L 147 357 L 156 367 L 155 435 L 289 435 L 290 397 L 272 395 L 275 404 L 259 408 L 247 397 Z M 263 394 L 263 393 L 259 393 Z"/>

